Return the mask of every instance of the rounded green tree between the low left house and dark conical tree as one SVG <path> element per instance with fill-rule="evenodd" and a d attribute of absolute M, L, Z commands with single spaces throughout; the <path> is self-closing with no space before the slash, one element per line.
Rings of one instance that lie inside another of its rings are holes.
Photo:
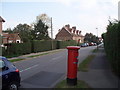
<path fill-rule="evenodd" d="M 19 24 L 14 29 L 14 33 L 19 33 L 20 38 L 23 42 L 29 42 L 32 40 L 33 36 L 31 35 L 32 28 L 27 24 Z"/>

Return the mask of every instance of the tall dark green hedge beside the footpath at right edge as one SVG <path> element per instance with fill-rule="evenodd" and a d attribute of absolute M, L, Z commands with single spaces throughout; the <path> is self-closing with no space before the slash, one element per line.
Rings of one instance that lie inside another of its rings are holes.
<path fill-rule="evenodd" d="M 120 22 L 110 22 L 103 39 L 112 68 L 120 76 Z"/>

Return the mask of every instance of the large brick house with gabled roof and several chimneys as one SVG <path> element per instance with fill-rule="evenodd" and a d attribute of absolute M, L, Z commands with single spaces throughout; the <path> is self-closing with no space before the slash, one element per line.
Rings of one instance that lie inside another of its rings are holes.
<path fill-rule="evenodd" d="M 55 39 L 62 41 L 75 40 L 77 43 L 84 42 L 84 36 L 81 34 L 81 31 L 76 30 L 76 27 L 70 28 L 69 24 L 59 29 Z"/>

